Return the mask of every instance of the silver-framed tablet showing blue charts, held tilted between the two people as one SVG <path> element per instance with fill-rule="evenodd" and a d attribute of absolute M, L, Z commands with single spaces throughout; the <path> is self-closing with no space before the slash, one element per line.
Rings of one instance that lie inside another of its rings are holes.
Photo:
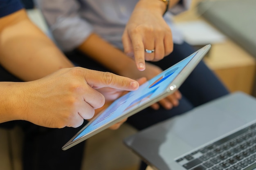
<path fill-rule="evenodd" d="M 204 46 L 153 79 L 148 80 L 139 86 L 136 91 L 130 91 L 116 99 L 106 110 L 95 116 L 74 135 L 62 147 L 62 150 L 67 150 L 79 144 L 113 124 L 171 95 L 181 86 L 210 48 L 211 45 Z"/>

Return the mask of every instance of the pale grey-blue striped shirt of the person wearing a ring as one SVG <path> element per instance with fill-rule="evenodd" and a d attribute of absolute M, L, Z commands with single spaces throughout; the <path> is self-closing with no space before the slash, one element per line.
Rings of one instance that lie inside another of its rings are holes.
<path fill-rule="evenodd" d="M 138 0 L 38 0 L 38 7 L 52 35 L 63 51 L 71 51 L 94 32 L 119 49 L 126 23 Z M 164 19 L 171 27 L 173 42 L 183 41 L 172 22 L 174 14 L 189 8 L 191 0 L 183 0 L 170 9 Z"/>

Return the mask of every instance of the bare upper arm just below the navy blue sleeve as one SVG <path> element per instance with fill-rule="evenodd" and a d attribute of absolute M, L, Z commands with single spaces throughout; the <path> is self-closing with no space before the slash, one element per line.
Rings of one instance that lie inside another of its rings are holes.
<path fill-rule="evenodd" d="M 30 81 L 73 64 L 38 29 L 24 10 L 1 18 L 0 64 L 8 71 Z"/>

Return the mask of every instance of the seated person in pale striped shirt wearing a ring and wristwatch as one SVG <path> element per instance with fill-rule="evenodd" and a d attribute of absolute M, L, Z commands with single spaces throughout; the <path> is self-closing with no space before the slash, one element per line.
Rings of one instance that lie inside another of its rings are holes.
<path fill-rule="evenodd" d="M 191 0 L 38 0 L 54 40 L 77 66 L 151 79 L 195 52 L 172 22 Z M 229 93 L 202 61 L 179 91 L 126 121 L 137 130 Z M 145 164 L 141 166 L 145 169 Z"/>

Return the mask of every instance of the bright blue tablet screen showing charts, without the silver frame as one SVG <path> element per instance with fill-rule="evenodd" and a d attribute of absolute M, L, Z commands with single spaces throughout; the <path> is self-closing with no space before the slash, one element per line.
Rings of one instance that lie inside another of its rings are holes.
<path fill-rule="evenodd" d="M 196 55 L 187 57 L 182 62 L 179 62 L 172 67 L 168 68 L 161 74 L 157 75 L 148 82 L 142 84 L 138 90 L 130 91 L 126 95 L 115 100 L 101 115 L 90 122 L 90 124 L 77 135 L 73 141 L 83 137 L 105 125 L 106 123 L 126 115 L 132 109 L 137 108 L 137 106 L 144 104 L 145 102 L 154 99 L 157 95 L 161 95 L 166 92 L 166 88 L 171 84 L 173 79 L 182 71 L 182 69 L 189 63 L 189 61 Z M 171 89 L 172 90 L 172 89 Z"/>

